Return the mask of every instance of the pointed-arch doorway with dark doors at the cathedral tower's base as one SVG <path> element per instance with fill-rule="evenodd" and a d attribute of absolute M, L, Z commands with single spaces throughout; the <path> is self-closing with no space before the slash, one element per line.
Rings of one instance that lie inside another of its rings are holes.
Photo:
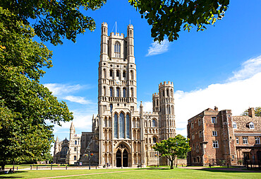
<path fill-rule="evenodd" d="M 116 167 L 128 167 L 128 148 L 124 144 L 116 149 Z"/>

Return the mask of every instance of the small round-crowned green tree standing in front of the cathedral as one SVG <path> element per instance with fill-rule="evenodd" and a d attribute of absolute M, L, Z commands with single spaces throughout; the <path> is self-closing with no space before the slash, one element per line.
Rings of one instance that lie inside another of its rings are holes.
<path fill-rule="evenodd" d="M 183 156 L 188 151 L 190 151 L 190 146 L 188 144 L 189 139 L 186 139 L 181 134 L 176 135 L 174 138 L 169 138 L 167 140 L 162 140 L 162 142 L 156 143 L 152 148 L 159 151 L 162 156 L 171 161 L 171 169 L 174 168 L 174 160 L 177 156 Z"/>

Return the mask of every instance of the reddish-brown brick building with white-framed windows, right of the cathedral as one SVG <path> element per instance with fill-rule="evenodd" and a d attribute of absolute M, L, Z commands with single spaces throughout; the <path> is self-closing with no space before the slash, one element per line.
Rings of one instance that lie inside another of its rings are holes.
<path fill-rule="evenodd" d="M 188 120 L 188 166 L 207 166 L 261 160 L 261 117 L 254 108 L 248 116 L 232 116 L 231 110 L 208 108 Z"/>

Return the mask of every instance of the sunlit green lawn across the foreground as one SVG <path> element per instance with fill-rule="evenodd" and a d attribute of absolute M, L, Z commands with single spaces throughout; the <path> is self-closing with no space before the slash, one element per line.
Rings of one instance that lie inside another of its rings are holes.
<path fill-rule="evenodd" d="M 110 173 L 124 171 L 119 173 Z M 109 172 L 109 173 L 107 173 Z M 99 170 L 53 170 L 53 171 L 20 171 L 12 174 L 2 174 L 0 178 L 43 178 L 59 175 L 80 175 L 87 173 L 101 173 L 96 175 L 69 176 L 68 178 L 261 178 L 261 173 L 246 173 L 245 171 L 217 171 L 217 170 L 192 170 L 174 168 L 170 170 L 140 168 L 140 169 L 99 169 Z"/>

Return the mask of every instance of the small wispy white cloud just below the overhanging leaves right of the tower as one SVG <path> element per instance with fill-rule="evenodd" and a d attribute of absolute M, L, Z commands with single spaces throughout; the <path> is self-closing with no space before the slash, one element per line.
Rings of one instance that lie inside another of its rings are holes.
<path fill-rule="evenodd" d="M 169 40 L 163 40 L 161 44 L 158 42 L 152 42 L 149 50 L 147 51 L 146 57 L 155 55 L 155 54 L 162 54 L 169 50 Z"/>

